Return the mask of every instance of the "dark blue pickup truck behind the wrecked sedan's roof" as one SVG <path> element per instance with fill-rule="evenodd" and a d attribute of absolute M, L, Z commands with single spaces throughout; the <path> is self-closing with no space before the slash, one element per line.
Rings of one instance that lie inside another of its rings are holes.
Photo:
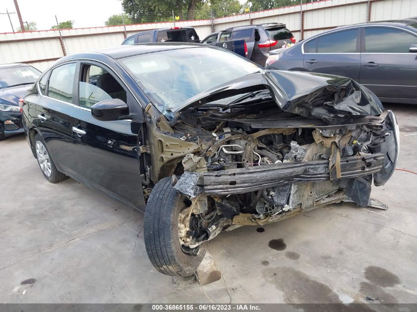
<path fill-rule="evenodd" d="M 200 38 L 192 27 L 161 28 L 141 32 L 128 36 L 122 44 L 150 43 L 150 42 L 190 42 L 199 43 Z M 243 57 L 248 55 L 245 40 L 227 40 L 223 42 L 210 42 L 211 45 L 230 50 Z"/>

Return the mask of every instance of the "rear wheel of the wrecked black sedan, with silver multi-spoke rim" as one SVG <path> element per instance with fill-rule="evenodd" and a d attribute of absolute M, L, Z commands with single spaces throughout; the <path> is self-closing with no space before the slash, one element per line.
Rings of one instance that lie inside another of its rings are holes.
<path fill-rule="evenodd" d="M 38 159 L 38 165 L 43 176 L 51 183 L 58 183 L 65 180 L 68 176 L 64 173 L 60 173 L 46 148 L 45 141 L 37 134 L 34 139 L 36 156 Z"/>

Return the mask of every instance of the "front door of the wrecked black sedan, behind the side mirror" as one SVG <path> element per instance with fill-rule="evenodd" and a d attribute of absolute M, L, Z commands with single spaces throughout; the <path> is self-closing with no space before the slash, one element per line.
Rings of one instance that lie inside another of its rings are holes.
<path fill-rule="evenodd" d="M 74 171 L 87 185 L 130 206 L 143 208 L 138 139 L 142 124 L 130 120 L 99 121 L 90 109 L 100 101 L 120 99 L 128 104 L 130 112 L 143 115 L 140 104 L 104 65 L 82 62 L 77 78 L 77 109 L 71 125 Z"/>

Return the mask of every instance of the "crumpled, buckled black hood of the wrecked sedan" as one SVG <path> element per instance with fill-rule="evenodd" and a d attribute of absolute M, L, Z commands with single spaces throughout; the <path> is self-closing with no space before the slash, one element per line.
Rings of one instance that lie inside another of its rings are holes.
<path fill-rule="evenodd" d="M 328 124 L 383 112 L 378 97 L 346 77 L 301 71 L 262 70 L 197 94 L 176 109 L 210 103 L 234 95 L 268 89 L 282 111 Z"/>

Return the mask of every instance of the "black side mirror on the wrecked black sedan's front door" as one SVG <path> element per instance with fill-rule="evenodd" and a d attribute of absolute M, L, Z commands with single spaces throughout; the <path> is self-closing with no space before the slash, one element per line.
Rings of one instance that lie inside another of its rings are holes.
<path fill-rule="evenodd" d="M 119 120 L 129 115 L 129 107 L 119 99 L 104 100 L 91 106 L 91 115 L 101 121 Z"/>

